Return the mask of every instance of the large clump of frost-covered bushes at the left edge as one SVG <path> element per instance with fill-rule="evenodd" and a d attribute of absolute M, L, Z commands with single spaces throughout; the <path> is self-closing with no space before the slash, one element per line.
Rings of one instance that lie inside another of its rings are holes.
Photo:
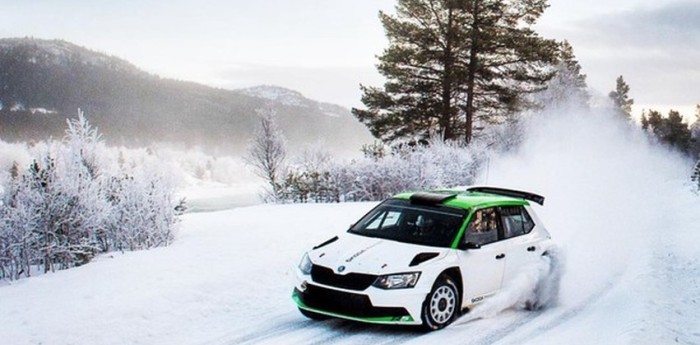
<path fill-rule="evenodd" d="M 174 185 L 157 162 L 116 170 L 97 129 L 82 113 L 66 136 L 16 165 L 0 200 L 0 278 L 82 265 L 114 249 L 167 245 L 173 237 Z M 115 176 L 131 176 L 115 188 Z M 123 200 L 129 200 L 128 207 Z M 115 226 L 118 224 L 118 226 Z"/>

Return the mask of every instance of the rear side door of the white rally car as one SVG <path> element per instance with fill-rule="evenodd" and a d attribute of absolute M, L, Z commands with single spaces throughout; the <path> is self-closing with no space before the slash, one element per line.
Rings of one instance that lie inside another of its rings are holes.
<path fill-rule="evenodd" d="M 541 239 L 532 233 L 535 223 L 523 206 L 499 207 L 506 250 L 503 284 L 507 285 L 542 255 Z"/>

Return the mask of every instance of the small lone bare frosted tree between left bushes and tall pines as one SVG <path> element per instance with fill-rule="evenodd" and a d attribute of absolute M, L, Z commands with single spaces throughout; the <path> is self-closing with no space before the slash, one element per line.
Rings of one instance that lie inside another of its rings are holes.
<path fill-rule="evenodd" d="M 286 140 L 275 120 L 273 109 L 258 111 L 260 123 L 248 144 L 246 162 L 256 175 L 263 178 L 270 191 L 266 199 L 276 199 L 280 192 L 280 179 L 287 156 Z"/>

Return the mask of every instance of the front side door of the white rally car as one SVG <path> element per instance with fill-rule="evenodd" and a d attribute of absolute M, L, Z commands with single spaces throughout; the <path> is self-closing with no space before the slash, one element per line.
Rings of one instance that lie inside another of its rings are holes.
<path fill-rule="evenodd" d="M 463 305 L 481 301 L 501 288 L 505 247 L 499 241 L 500 221 L 496 208 L 473 211 L 460 247 Z"/>

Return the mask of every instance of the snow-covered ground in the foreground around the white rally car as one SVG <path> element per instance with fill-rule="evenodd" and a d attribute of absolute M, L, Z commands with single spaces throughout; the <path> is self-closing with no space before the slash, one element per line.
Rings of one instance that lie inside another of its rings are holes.
<path fill-rule="evenodd" d="M 307 320 L 290 299 L 289 270 L 305 248 L 371 206 L 255 206 L 187 215 L 169 248 L 114 254 L 1 287 L 0 339 L 18 345 L 700 343 L 700 260 L 689 243 L 673 240 L 637 247 L 637 260 L 625 267 L 584 271 L 572 268 L 576 256 L 606 253 L 570 245 L 561 302 L 539 312 L 467 314 L 430 334 Z M 698 218 L 669 226 L 691 233 L 692 221 Z"/>

